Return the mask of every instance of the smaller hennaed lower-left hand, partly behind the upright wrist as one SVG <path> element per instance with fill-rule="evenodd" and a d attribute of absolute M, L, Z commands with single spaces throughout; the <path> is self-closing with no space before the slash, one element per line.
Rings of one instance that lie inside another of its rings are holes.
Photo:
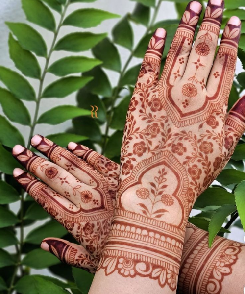
<path fill-rule="evenodd" d="M 52 162 L 20 145 L 12 154 L 42 182 L 21 169 L 14 170 L 14 177 L 83 247 L 53 238 L 43 246 L 61 260 L 95 272 L 111 226 L 119 166 L 75 143 L 69 147 L 80 158 L 40 135 L 31 144 Z"/>

